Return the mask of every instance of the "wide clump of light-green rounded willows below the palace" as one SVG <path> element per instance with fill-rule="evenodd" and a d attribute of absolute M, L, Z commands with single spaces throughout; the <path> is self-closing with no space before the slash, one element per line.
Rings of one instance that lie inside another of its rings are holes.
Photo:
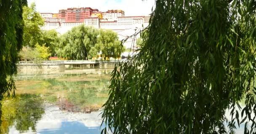
<path fill-rule="evenodd" d="M 80 25 L 64 33 L 59 39 L 58 57 L 67 59 L 87 59 L 97 57 L 101 52 L 104 57 L 119 57 L 124 51 L 113 31 L 97 30 Z"/>

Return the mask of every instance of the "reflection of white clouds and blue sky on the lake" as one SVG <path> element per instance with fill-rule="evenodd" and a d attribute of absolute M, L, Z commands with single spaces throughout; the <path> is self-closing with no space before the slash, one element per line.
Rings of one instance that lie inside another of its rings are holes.
<path fill-rule="evenodd" d="M 56 106 L 48 106 L 42 119 L 37 121 L 38 134 L 99 134 L 101 117 L 100 111 L 92 113 L 69 113 L 59 110 Z M 15 127 L 11 127 L 10 134 L 19 133 Z M 33 134 L 28 130 L 26 134 Z"/>

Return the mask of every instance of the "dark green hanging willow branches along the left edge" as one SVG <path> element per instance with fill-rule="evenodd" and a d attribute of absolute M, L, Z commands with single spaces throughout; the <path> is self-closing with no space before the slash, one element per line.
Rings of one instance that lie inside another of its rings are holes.
<path fill-rule="evenodd" d="M 10 92 L 15 89 L 12 75 L 17 72 L 15 63 L 22 48 L 22 6 L 25 5 L 27 0 L 0 0 L 0 116 L 5 93 L 10 96 Z"/>

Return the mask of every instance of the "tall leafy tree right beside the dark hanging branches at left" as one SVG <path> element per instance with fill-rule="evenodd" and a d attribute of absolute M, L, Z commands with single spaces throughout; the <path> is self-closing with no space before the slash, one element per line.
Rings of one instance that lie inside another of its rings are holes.
<path fill-rule="evenodd" d="M 24 46 L 34 47 L 40 41 L 41 30 L 40 27 L 44 25 L 44 20 L 40 13 L 36 11 L 35 3 L 31 3 L 30 7 L 23 7 L 24 20 Z"/>

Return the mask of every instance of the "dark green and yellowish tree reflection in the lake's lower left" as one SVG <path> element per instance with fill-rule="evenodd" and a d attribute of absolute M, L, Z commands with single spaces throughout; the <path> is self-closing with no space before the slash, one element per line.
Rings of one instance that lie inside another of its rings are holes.
<path fill-rule="evenodd" d="M 15 126 L 19 133 L 36 131 L 37 121 L 44 113 L 43 101 L 39 95 L 22 94 L 14 100 L 5 100 L 1 117 L 3 133 L 8 134 L 9 126 Z"/>

